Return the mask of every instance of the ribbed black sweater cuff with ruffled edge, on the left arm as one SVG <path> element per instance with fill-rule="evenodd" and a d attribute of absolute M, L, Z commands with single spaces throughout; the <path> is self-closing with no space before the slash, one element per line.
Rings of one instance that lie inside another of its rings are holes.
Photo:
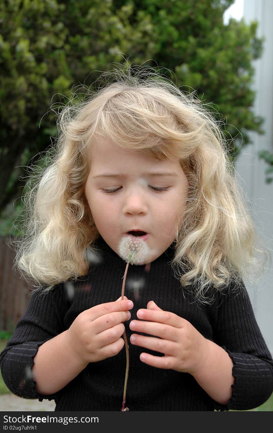
<path fill-rule="evenodd" d="M 32 375 L 34 357 L 39 347 L 50 339 L 51 337 L 44 341 L 22 343 L 5 354 L 2 362 L 3 380 L 13 394 L 22 398 L 38 398 L 39 401 L 57 399 L 59 392 L 50 395 L 39 394 Z"/>

